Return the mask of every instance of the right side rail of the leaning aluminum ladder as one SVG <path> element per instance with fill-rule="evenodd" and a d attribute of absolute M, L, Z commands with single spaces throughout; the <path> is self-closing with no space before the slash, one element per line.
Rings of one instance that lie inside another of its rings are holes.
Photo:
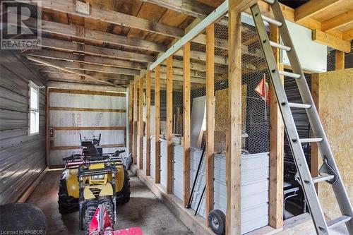
<path fill-rule="evenodd" d="M 282 19 L 282 27 L 279 28 L 280 30 L 280 35 L 282 37 L 282 41 L 287 47 L 291 47 L 292 49 L 287 52 L 289 62 L 292 66 L 292 70 L 294 73 L 297 73 L 301 75 L 301 78 L 296 79 L 299 92 L 301 95 L 301 99 L 303 100 L 304 104 L 311 104 L 310 109 L 306 109 L 306 113 L 309 118 L 309 122 L 311 124 L 311 128 L 313 129 L 313 133 L 316 135 L 315 137 L 317 138 L 323 138 L 321 142 L 318 142 L 318 147 L 321 152 L 321 157 L 324 157 L 328 160 L 328 164 L 330 167 L 333 168 L 333 170 L 338 174 L 338 180 L 335 184 L 333 184 L 333 191 L 335 193 L 335 198 L 337 200 L 337 203 L 340 207 L 340 210 L 342 212 L 342 215 L 347 215 L 351 218 L 353 218 L 353 210 L 352 210 L 352 204 L 349 200 L 349 196 L 347 194 L 347 190 L 345 188 L 345 185 L 342 181 L 342 177 L 340 176 L 339 169 L 337 167 L 337 164 L 335 162 L 335 157 L 333 157 L 333 152 L 330 149 L 330 145 L 328 143 L 328 138 L 325 135 L 325 131 L 323 128 L 323 125 L 321 123 L 320 116 L 318 116 L 317 109 L 315 107 L 315 103 L 313 102 L 313 98 L 311 97 L 311 91 L 309 90 L 309 86 L 306 83 L 306 79 L 304 77 L 304 73 L 301 69 L 301 65 L 297 56 L 297 53 L 295 51 L 294 45 L 292 43 L 292 39 L 289 35 L 289 31 L 287 29 L 287 24 L 285 23 L 285 18 L 283 17 L 280 4 L 278 4 L 278 1 L 275 1 L 274 4 L 271 5 L 273 9 L 273 14 L 277 20 Z M 353 235 L 353 219 L 350 219 L 348 222 L 346 222 L 347 229 L 349 231 L 350 235 Z"/>

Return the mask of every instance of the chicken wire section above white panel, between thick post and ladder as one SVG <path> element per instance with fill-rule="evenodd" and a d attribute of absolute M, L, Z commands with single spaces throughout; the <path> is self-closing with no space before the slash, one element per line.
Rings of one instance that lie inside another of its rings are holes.
<path fill-rule="evenodd" d="M 244 153 L 270 150 L 270 77 L 256 28 L 241 24 L 242 147 Z"/>

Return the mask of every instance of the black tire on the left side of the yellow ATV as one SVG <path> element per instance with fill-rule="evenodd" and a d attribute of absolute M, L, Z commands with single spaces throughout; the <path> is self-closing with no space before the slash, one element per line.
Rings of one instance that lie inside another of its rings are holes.
<path fill-rule="evenodd" d="M 61 215 L 78 211 L 78 198 L 68 195 L 65 179 L 60 179 L 58 196 L 59 212 Z"/>

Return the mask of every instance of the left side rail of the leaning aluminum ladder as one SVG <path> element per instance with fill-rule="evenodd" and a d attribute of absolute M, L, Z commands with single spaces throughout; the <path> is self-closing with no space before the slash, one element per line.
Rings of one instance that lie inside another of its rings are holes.
<path fill-rule="evenodd" d="M 317 233 L 326 235 L 328 234 L 328 227 L 323 217 L 321 205 L 318 202 L 318 196 L 316 195 L 314 184 L 311 179 L 311 174 L 305 159 L 304 151 L 299 141 L 299 135 L 297 133 L 297 128 L 295 127 L 292 111 L 290 110 L 288 104 L 287 95 L 285 94 L 285 90 L 280 81 L 280 74 L 278 72 L 275 57 L 268 40 L 268 35 L 265 31 L 265 25 L 263 24 L 261 11 L 258 7 L 258 4 L 251 6 L 251 12 L 253 14 L 256 28 L 258 30 L 258 35 L 261 40 L 260 44 L 263 49 L 263 54 L 266 58 L 266 63 L 268 64 L 271 82 L 273 84 L 275 95 L 280 106 L 282 118 L 285 123 L 285 129 L 293 152 L 294 162 L 298 169 L 301 185 L 304 188 L 304 195 L 306 196 L 306 200 L 308 200 L 308 204 L 311 210 L 311 217 L 315 224 Z"/>

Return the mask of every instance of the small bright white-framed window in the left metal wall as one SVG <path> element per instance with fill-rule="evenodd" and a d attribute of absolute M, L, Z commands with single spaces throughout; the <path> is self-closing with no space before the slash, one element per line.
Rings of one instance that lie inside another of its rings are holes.
<path fill-rule="evenodd" d="M 30 81 L 30 135 L 40 131 L 40 88 Z"/>

